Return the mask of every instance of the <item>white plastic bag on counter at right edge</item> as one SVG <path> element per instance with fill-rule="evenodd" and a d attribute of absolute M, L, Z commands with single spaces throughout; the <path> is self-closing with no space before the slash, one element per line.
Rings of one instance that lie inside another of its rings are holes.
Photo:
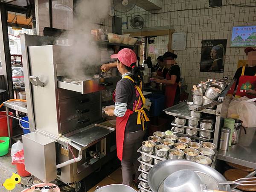
<path fill-rule="evenodd" d="M 239 119 L 243 121 L 243 126 L 248 128 L 256 127 L 256 98 L 248 99 L 246 96 L 233 99 L 230 102 L 227 117 L 239 115 Z"/>

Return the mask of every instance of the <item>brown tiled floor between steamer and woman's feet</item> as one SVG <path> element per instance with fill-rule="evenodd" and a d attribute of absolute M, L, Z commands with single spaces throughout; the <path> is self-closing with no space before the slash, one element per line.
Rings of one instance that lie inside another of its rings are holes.
<path fill-rule="evenodd" d="M 113 173 L 105 177 L 102 181 L 100 181 L 96 186 L 106 186 L 111 184 L 122 184 L 122 170 L 121 167 L 116 169 Z M 93 186 L 88 192 L 94 192 L 96 186 Z M 132 186 L 135 190 L 135 186 Z"/>

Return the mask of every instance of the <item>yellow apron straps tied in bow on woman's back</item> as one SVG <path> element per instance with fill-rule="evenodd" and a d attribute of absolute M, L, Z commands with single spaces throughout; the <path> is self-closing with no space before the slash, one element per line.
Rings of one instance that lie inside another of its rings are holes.
<path fill-rule="evenodd" d="M 124 78 L 127 78 L 127 79 L 130 79 L 132 82 L 134 82 L 134 80 L 130 77 L 130 76 L 125 76 Z M 138 115 L 137 115 L 137 125 L 141 125 L 141 121 L 142 121 L 142 127 L 143 127 L 143 131 L 145 130 L 145 127 L 144 127 L 144 122 L 146 121 L 149 121 L 148 119 L 148 116 L 146 115 L 145 111 L 143 110 L 144 108 L 144 104 L 145 104 L 145 97 L 141 91 L 142 89 L 142 82 L 140 82 L 140 87 L 135 85 L 136 89 L 138 90 L 139 94 L 140 94 L 140 97 L 138 99 L 138 102 L 137 102 L 137 105 L 135 107 L 135 112 L 138 112 Z M 139 102 L 140 102 L 140 98 L 142 99 L 142 103 L 143 103 L 143 106 L 137 110 L 138 106 L 139 106 Z"/>

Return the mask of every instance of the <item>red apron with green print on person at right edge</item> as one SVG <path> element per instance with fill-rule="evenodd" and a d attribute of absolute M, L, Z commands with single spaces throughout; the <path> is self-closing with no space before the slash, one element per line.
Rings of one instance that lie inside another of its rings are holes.
<path fill-rule="evenodd" d="M 247 96 L 252 99 L 254 96 L 246 94 L 247 90 L 256 90 L 256 74 L 254 76 L 244 76 L 245 66 L 242 68 L 242 73 L 239 78 L 238 86 L 236 89 L 235 98 Z"/>

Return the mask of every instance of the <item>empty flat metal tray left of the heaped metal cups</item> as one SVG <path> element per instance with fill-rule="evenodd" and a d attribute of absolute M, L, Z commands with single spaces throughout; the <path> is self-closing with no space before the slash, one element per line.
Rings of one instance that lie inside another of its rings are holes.
<path fill-rule="evenodd" d="M 194 118 L 190 116 L 189 108 L 192 102 L 182 102 L 177 105 L 173 105 L 165 110 L 163 110 L 166 114 L 172 116 L 178 116 L 185 119 L 191 119 L 194 121 L 200 121 L 201 119 Z"/>

